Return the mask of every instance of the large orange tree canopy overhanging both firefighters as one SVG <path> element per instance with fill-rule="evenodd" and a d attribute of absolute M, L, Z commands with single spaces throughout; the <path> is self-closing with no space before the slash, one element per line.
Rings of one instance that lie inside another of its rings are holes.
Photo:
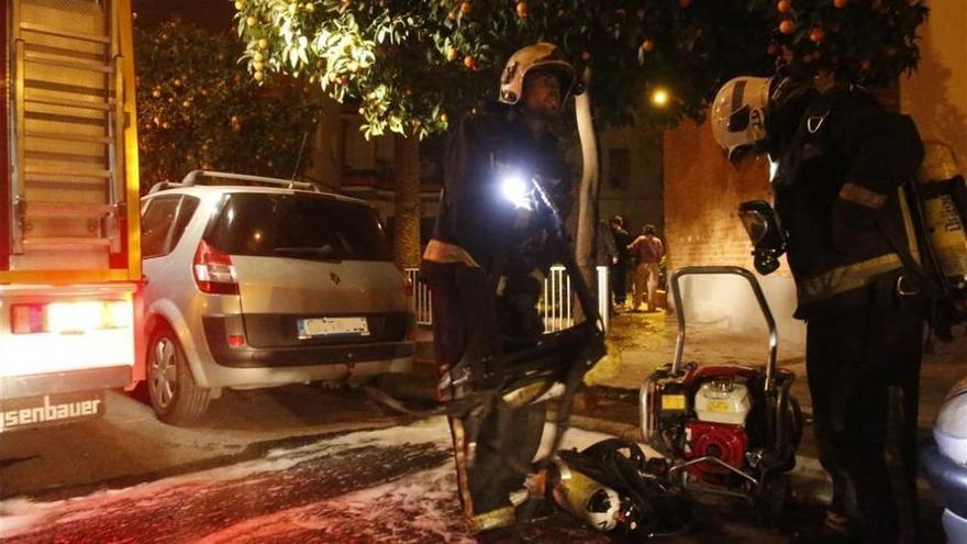
<path fill-rule="evenodd" d="M 496 98 L 502 62 L 538 40 L 593 74 L 599 122 L 700 120 L 738 74 L 788 66 L 883 85 L 919 59 L 920 0 L 236 0 L 253 80 L 297 76 L 359 104 L 367 134 L 442 132 Z"/>

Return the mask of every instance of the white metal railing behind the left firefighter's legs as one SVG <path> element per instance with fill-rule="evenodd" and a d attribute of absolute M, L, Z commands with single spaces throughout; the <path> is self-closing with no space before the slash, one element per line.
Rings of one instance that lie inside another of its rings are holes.
<path fill-rule="evenodd" d="M 407 268 L 407 278 L 413 284 L 414 312 L 416 324 L 430 325 L 433 323 L 433 309 L 431 304 L 430 288 L 420 276 L 419 268 Z M 598 314 L 604 324 L 609 326 L 609 310 L 611 296 L 609 289 L 608 267 L 599 266 L 598 276 Z M 574 306 L 577 302 L 570 290 L 570 278 L 563 266 L 553 266 L 544 278 L 544 296 L 537 302 L 537 310 L 544 317 L 544 331 L 555 332 L 574 325 Z"/>

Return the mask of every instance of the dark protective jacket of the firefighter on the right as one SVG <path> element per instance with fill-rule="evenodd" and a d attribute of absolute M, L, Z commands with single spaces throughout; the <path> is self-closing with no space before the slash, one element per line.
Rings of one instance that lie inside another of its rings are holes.
<path fill-rule="evenodd" d="M 789 145 L 773 158 L 797 318 L 863 306 L 869 301 L 865 287 L 899 275 L 902 262 L 887 232 L 916 255 L 899 191 L 923 158 L 909 116 L 883 111 L 863 88 L 833 89 L 812 101 Z"/>

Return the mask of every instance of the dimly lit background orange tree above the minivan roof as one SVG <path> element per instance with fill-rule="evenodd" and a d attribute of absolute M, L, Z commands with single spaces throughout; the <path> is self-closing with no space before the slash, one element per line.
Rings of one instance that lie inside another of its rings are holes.
<path fill-rule="evenodd" d="M 136 32 L 145 188 L 194 168 L 289 178 L 305 166 L 318 93 L 292 78 L 259 86 L 238 64 L 244 49 L 231 32 L 178 20 Z"/>

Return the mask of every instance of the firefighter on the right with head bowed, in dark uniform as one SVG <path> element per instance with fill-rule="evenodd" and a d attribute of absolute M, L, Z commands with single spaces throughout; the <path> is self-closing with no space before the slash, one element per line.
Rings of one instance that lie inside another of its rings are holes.
<path fill-rule="evenodd" d="M 801 542 L 915 542 L 915 436 L 923 281 L 900 187 L 923 158 L 912 120 L 858 86 L 819 92 L 787 76 L 719 91 L 712 129 L 735 160 L 767 153 L 788 236 L 796 317 L 820 462 L 833 480 L 825 520 Z M 912 260 L 911 260 L 912 259 Z"/>

